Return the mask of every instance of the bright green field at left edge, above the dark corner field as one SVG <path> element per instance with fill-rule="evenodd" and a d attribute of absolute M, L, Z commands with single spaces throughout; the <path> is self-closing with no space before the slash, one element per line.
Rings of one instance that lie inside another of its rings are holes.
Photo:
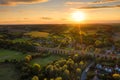
<path fill-rule="evenodd" d="M 6 50 L 6 49 L 0 49 L 0 62 L 4 61 L 5 59 L 23 59 L 24 56 L 27 54 L 22 54 L 21 52 L 12 51 L 12 50 Z"/>

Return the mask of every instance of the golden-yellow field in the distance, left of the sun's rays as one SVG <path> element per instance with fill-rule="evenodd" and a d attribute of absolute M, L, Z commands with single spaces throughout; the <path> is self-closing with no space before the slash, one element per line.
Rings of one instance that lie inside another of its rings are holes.
<path fill-rule="evenodd" d="M 25 33 L 25 35 L 29 35 L 31 37 L 48 37 L 49 33 L 39 32 L 39 31 L 31 31 L 29 33 Z"/>

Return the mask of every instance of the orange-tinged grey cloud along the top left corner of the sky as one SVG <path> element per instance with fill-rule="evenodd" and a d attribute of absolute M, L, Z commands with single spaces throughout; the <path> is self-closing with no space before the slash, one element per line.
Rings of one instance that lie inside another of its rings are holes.
<path fill-rule="evenodd" d="M 48 0 L 0 0 L 0 5 L 18 5 L 47 2 Z"/>

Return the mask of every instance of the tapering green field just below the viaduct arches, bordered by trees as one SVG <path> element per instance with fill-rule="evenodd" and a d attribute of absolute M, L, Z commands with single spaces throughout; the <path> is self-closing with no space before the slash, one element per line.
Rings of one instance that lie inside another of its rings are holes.
<path fill-rule="evenodd" d="M 41 67 L 47 65 L 48 63 L 51 63 L 55 60 L 58 60 L 58 59 L 61 59 L 61 58 L 65 58 L 65 57 L 62 57 L 62 56 L 59 56 L 59 55 L 50 55 L 48 57 L 45 57 L 45 58 L 36 58 L 36 59 L 33 59 L 30 64 L 34 64 L 34 63 L 38 63 L 41 65 Z"/>

